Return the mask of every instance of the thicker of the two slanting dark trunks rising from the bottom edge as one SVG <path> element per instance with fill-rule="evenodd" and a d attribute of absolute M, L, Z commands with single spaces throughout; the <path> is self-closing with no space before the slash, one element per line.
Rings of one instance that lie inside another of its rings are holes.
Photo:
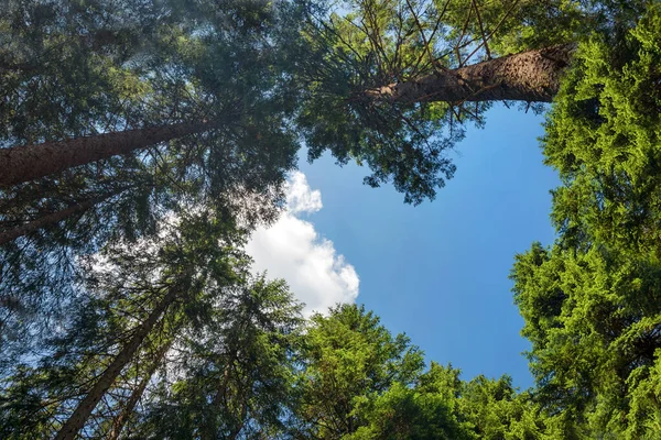
<path fill-rule="evenodd" d="M 99 400 L 104 397 L 108 388 L 112 386 L 115 380 L 133 359 L 133 355 L 142 344 L 142 341 L 150 333 L 154 324 L 159 321 L 161 315 L 167 309 L 167 307 L 176 299 L 178 294 L 177 286 L 172 286 L 165 297 L 156 305 L 145 321 L 143 321 L 133 333 L 131 340 L 121 349 L 119 354 L 115 358 L 112 363 L 108 365 L 106 371 L 101 374 L 98 381 L 94 384 L 87 396 L 76 407 L 74 413 L 69 416 L 66 422 L 62 426 L 55 440 L 74 440 L 78 435 L 78 431 L 89 415 L 97 406 Z"/>

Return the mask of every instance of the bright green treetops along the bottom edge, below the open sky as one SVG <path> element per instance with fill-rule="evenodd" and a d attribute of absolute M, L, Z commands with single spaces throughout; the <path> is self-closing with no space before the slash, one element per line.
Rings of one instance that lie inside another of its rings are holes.
<path fill-rule="evenodd" d="M 459 380 L 364 308 L 312 318 L 303 338 L 294 438 L 551 440 L 557 432 L 509 377 Z"/>

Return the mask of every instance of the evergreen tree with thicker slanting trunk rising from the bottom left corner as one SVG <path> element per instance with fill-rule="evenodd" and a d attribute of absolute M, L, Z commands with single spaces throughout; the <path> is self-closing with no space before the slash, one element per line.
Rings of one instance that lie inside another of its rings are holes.
<path fill-rule="evenodd" d="M 243 234 L 232 222 L 199 216 L 161 231 L 159 242 L 90 262 L 97 268 L 78 311 L 41 348 L 41 360 L 31 353 L 4 375 L 3 436 L 111 432 L 134 405 L 130 384 L 162 364 L 182 331 L 204 326 L 225 289 L 245 278 Z"/>

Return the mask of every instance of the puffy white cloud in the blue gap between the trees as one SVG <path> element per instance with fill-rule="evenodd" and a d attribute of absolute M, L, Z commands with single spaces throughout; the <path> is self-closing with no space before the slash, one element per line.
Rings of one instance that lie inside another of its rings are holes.
<path fill-rule="evenodd" d="M 259 228 L 247 245 L 253 270 L 269 278 L 284 278 L 305 315 L 325 312 L 336 302 L 354 302 L 359 279 L 354 266 L 337 254 L 330 240 L 319 237 L 314 224 L 296 217 L 322 209 L 322 194 L 312 190 L 305 175 L 295 172 L 286 188 L 288 209 L 270 228 Z"/>

